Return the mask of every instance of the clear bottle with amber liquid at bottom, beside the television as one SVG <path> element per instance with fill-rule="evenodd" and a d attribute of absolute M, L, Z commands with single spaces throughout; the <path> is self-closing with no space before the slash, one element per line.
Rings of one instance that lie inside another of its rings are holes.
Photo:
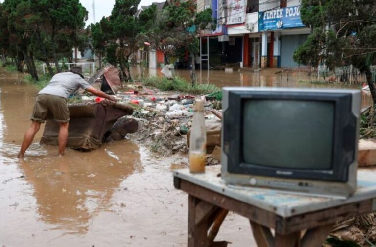
<path fill-rule="evenodd" d="M 204 102 L 196 100 L 189 138 L 189 171 L 204 173 L 206 161 L 206 130 Z"/>

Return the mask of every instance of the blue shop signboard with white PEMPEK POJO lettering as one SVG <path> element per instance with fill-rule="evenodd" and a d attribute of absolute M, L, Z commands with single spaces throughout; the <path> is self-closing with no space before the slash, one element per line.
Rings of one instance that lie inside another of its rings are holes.
<path fill-rule="evenodd" d="M 258 13 L 258 30 L 278 30 L 304 27 L 300 18 L 300 6 L 272 9 Z"/>

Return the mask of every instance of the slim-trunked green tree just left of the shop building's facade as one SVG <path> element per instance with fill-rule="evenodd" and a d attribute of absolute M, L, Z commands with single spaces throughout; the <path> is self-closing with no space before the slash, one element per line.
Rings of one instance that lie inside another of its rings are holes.
<path fill-rule="evenodd" d="M 190 54 L 192 61 L 192 84 L 196 82 L 195 73 L 195 56 L 199 52 L 200 44 L 198 35 L 201 30 L 215 28 L 214 19 L 212 18 L 212 10 L 205 9 L 199 13 L 196 12 L 196 4 L 193 0 L 180 2 L 179 0 L 171 0 L 167 7 L 169 19 L 167 27 L 175 30 L 175 39 L 178 44 L 184 47 Z"/>

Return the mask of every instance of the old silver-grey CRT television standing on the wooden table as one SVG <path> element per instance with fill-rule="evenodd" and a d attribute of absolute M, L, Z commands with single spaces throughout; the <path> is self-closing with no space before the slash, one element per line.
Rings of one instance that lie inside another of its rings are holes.
<path fill-rule="evenodd" d="M 360 107 L 360 90 L 223 88 L 223 180 L 352 195 Z"/>

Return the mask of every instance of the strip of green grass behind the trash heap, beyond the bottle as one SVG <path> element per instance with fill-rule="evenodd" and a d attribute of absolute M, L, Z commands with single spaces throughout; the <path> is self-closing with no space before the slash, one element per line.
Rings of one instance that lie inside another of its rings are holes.
<path fill-rule="evenodd" d="M 172 80 L 161 77 L 150 77 L 142 82 L 145 86 L 158 88 L 162 91 L 178 91 L 190 94 L 209 94 L 221 89 L 214 84 L 190 84 L 185 79 L 174 77 Z"/>

